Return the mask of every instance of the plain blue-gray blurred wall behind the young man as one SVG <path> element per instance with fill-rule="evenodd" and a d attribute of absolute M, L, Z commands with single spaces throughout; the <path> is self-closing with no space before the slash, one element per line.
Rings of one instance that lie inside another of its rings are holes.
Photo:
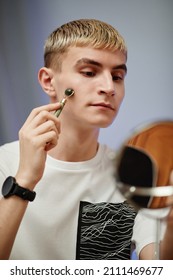
<path fill-rule="evenodd" d="M 100 142 L 117 148 L 136 125 L 173 119 L 172 0 L 1 0 L 0 144 L 16 140 L 32 108 L 48 103 L 37 81 L 44 41 L 78 18 L 112 24 L 128 45 L 125 100 Z"/>

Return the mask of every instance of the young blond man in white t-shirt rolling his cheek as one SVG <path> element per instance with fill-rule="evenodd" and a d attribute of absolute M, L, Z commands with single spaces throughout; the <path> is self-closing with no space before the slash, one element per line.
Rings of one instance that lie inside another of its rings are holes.
<path fill-rule="evenodd" d="M 131 241 L 153 258 L 153 222 L 124 201 L 112 151 L 98 143 L 123 100 L 126 59 L 123 38 L 101 21 L 67 23 L 47 39 L 38 78 L 50 104 L 0 149 L 1 259 L 129 259 Z M 75 93 L 57 118 L 67 88 Z"/>

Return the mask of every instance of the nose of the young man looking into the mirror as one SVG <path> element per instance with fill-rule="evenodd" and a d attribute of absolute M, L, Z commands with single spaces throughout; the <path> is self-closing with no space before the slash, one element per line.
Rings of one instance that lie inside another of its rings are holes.
<path fill-rule="evenodd" d="M 106 74 L 102 77 L 100 94 L 106 94 L 107 96 L 115 95 L 115 82 L 113 81 L 112 75 Z"/>

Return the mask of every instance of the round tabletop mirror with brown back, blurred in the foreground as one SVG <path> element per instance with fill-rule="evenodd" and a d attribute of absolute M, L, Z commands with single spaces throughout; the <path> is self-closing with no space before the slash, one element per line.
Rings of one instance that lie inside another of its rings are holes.
<path fill-rule="evenodd" d="M 173 205 L 173 121 L 135 129 L 116 158 L 116 178 L 124 197 L 137 208 Z"/>

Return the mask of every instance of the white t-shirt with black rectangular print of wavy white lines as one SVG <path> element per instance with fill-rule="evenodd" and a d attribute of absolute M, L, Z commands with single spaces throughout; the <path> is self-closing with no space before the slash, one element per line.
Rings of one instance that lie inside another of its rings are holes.
<path fill-rule="evenodd" d="M 116 188 L 111 154 L 100 145 L 84 162 L 47 157 L 10 259 L 126 259 L 128 236 L 137 254 L 155 241 L 153 220 L 136 216 Z M 1 186 L 7 176 L 15 176 L 18 163 L 18 141 L 0 147 Z"/>

